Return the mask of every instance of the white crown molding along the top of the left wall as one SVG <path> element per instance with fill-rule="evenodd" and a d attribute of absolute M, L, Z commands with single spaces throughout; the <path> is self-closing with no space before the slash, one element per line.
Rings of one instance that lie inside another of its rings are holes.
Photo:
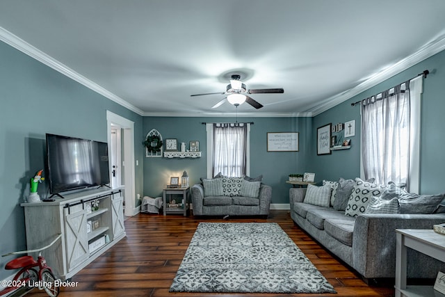
<path fill-rule="evenodd" d="M 2 27 L 0 27 L 0 40 L 10 45 L 11 47 L 18 49 L 19 51 L 22 51 L 24 54 L 31 56 L 31 58 L 35 58 L 35 60 L 43 63 L 44 65 L 47 65 L 53 68 L 54 70 L 60 72 L 61 74 L 64 74 L 70 79 L 73 79 L 78 83 L 81 83 L 83 86 L 90 88 L 94 92 L 110 99 L 113 102 L 116 102 L 117 104 L 124 106 L 130 111 L 134 111 L 135 113 L 138 113 L 138 115 L 143 115 L 143 111 L 138 109 L 136 106 L 129 104 L 124 99 L 114 95 L 105 88 L 102 88 L 97 83 L 90 81 L 90 79 L 87 79 L 86 77 L 83 77 L 81 74 L 75 72 L 70 67 L 67 67 L 66 65 L 60 63 L 51 56 L 48 56 L 43 51 L 40 51 L 40 49 L 33 47 L 28 42 L 22 40 L 22 38 L 17 37 L 13 33 L 10 33 L 6 29 L 3 29 Z"/>

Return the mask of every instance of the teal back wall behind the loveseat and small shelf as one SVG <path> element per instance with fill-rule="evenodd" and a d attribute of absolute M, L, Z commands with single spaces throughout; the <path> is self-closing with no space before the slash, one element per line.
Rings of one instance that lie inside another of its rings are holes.
<path fill-rule="evenodd" d="M 206 127 L 202 122 L 235 122 L 232 118 L 144 118 L 144 136 L 151 129 L 163 138 L 177 138 L 178 142 L 200 141 L 202 157 L 198 159 L 145 158 L 144 195 L 158 197 L 170 176 L 181 176 L 187 171 L 189 184 L 207 177 Z M 272 186 L 272 203 L 289 203 L 286 184 L 289 173 L 312 170 L 308 162 L 312 151 L 307 141 L 312 131 L 312 118 L 238 118 L 238 122 L 254 122 L 250 128 L 250 176 L 263 175 L 263 182 Z M 299 132 L 299 152 L 267 152 L 267 132 Z M 141 138 L 141 143 L 143 138 Z"/>

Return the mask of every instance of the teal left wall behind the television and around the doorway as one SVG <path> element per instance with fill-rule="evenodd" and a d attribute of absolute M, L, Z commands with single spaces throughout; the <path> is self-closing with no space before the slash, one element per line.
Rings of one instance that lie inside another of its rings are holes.
<path fill-rule="evenodd" d="M 45 134 L 107 140 L 106 111 L 134 122 L 136 159 L 143 160 L 138 136 L 143 117 L 0 42 L 0 255 L 26 249 L 24 209 L 29 179 L 44 168 Z M 136 166 L 136 191 L 143 188 Z M 39 186 L 40 196 L 47 184 Z M 44 228 L 45 226 L 42 226 Z M 13 257 L 0 258 L 0 280 Z"/>

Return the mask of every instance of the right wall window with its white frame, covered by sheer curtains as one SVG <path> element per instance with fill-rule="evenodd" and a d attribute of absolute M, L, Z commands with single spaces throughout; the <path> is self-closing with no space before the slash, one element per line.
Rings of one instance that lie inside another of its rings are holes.
<path fill-rule="evenodd" d="M 420 83 L 422 83 L 420 78 Z M 419 79 L 362 101 L 362 172 L 419 191 Z"/>

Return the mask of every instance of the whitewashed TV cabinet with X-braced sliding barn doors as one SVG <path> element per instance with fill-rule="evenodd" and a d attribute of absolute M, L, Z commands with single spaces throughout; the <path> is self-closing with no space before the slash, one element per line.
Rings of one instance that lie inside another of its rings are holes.
<path fill-rule="evenodd" d="M 22 203 L 29 250 L 46 246 L 42 255 L 63 280 L 124 238 L 123 188 L 97 188 L 64 195 L 54 202 Z"/>

